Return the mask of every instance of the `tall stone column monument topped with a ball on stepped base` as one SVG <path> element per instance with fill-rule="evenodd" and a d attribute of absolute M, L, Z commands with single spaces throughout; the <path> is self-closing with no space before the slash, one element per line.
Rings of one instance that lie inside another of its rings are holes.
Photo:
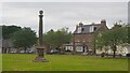
<path fill-rule="evenodd" d="M 39 11 L 39 40 L 38 40 L 38 46 L 36 47 L 37 50 L 37 57 L 35 58 L 35 62 L 48 62 L 44 58 L 44 47 L 43 47 L 43 33 L 42 33 L 42 17 L 43 17 L 43 11 Z"/>

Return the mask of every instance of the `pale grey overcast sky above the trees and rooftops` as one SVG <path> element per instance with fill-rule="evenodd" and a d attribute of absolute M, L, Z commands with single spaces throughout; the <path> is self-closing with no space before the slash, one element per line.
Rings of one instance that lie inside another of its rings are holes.
<path fill-rule="evenodd" d="M 4 2 L 2 23 L 37 31 L 39 10 L 43 10 L 44 32 L 62 27 L 74 31 L 79 21 L 90 25 L 101 19 L 106 19 L 110 28 L 115 21 L 128 19 L 127 2 Z"/>

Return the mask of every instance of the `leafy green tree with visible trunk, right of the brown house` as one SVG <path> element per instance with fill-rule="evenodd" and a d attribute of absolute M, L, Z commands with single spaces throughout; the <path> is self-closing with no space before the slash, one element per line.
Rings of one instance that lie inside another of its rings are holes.
<path fill-rule="evenodd" d="M 127 27 L 120 27 L 107 30 L 101 33 L 101 36 L 96 36 L 96 46 L 106 47 L 110 46 L 110 49 L 114 52 L 114 56 L 116 56 L 117 45 L 122 43 L 127 43 L 128 40 L 128 29 Z"/>

